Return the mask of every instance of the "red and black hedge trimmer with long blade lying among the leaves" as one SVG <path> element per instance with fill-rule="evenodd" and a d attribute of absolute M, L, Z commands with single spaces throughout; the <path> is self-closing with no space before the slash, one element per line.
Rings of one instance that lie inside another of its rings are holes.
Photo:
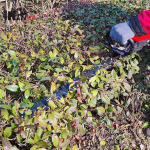
<path fill-rule="evenodd" d="M 115 63 L 116 58 L 125 57 L 129 54 L 131 54 L 133 51 L 139 51 L 144 46 L 146 46 L 148 43 L 150 43 L 150 34 L 142 37 L 135 36 L 132 39 L 129 39 L 126 45 L 120 45 L 116 44 L 115 41 L 113 41 L 110 37 L 110 31 L 107 33 L 106 38 L 109 42 L 109 46 L 111 48 L 111 57 L 108 57 L 107 60 L 105 60 L 103 63 L 100 63 L 98 66 L 95 66 L 94 68 L 90 69 L 87 72 L 84 72 L 84 76 L 87 77 L 87 79 L 90 79 L 92 76 L 96 75 L 96 72 L 100 69 L 108 69 Z M 79 78 L 74 78 L 74 86 L 77 86 L 79 82 L 82 82 Z M 68 91 L 73 91 L 73 87 L 70 88 L 71 83 L 66 83 L 61 88 L 54 91 L 56 94 L 56 98 L 60 100 L 63 96 L 66 96 L 68 94 Z M 31 107 L 32 112 L 34 113 L 38 107 L 42 107 L 46 109 L 48 107 L 49 100 L 54 100 L 54 98 L 51 96 L 49 98 L 44 98 L 41 101 L 37 102 Z"/>

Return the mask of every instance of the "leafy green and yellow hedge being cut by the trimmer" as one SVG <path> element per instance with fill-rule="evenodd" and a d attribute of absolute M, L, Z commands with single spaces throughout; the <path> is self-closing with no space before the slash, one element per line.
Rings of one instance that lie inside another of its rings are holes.
<path fill-rule="evenodd" d="M 141 10 L 134 12 L 121 4 L 76 1 L 47 12 L 36 4 L 41 10 L 34 17 L 9 28 L 1 25 L 2 149 L 84 149 L 80 137 L 88 127 L 95 133 L 94 148 L 141 148 L 142 140 L 136 144 L 135 135 L 126 132 L 136 119 L 142 129 L 141 102 L 146 102 L 149 111 L 149 93 L 143 93 L 150 87 L 149 61 L 145 59 L 144 67 L 139 64 L 147 50 L 141 57 L 133 53 L 116 60 L 90 79 L 83 75 L 107 59 L 106 32 Z M 74 78 L 82 82 L 73 86 Z M 68 82 L 67 95 L 58 100 L 54 91 Z M 31 107 L 44 97 L 52 97 L 49 107 L 38 107 L 33 116 Z"/>

